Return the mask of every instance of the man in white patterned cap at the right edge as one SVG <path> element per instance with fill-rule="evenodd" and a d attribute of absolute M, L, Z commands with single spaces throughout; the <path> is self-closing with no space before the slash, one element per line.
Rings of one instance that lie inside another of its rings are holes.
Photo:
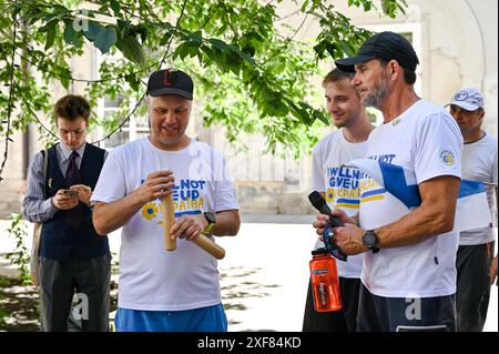
<path fill-rule="evenodd" d="M 465 138 L 462 178 L 488 184 L 487 196 L 492 211 L 495 193 L 497 200 L 497 139 L 481 129 L 485 115 L 483 98 L 478 90 L 464 89 L 456 92 L 447 105 L 450 107 L 450 114 L 456 119 Z M 466 211 L 467 218 L 473 218 L 473 212 L 476 211 Z M 490 297 L 489 269 L 495 241 L 492 227 L 490 224 L 485 229 L 459 233 L 456 259 L 456 311 L 459 332 L 483 330 Z"/>

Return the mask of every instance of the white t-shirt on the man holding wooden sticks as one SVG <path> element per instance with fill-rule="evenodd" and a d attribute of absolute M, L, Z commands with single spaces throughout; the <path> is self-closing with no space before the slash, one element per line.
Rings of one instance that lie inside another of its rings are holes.
<path fill-rule="evenodd" d="M 197 141 L 181 151 L 162 151 L 147 138 L 110 153 L 92 201 L 118 201 L 138 189 L 147 174 L 165 169 L 172 170 L 175 178 L 175 218 L 238 209 L 222 155 Z M 212 255 L 182 239 L 175 251 L 165 251 L 160 205 L 160 200 L 146 203 L 123 226 L 119 306 L 182 311 L 221 303 L 216 260 Z"/>

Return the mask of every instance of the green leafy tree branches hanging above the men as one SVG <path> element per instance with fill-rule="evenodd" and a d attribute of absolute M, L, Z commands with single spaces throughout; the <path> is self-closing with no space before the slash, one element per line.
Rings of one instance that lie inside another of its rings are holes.
<path fill-rule="evenodd" d="M 407 7 L 404 0 L 383 0 L 381 9 L 370 0 L 345 1 L 388 17 Z M 122 104 L 140 100 L 143 79 L 164 59 L 164 67 L 194 78 L 206 125 L 222 124 L 233 142 L 242 132 L 262 134 L 269 151 L 281 143 L 299 155 L 301 146 L 317 141 L 310 128 L 329 124 L 320 104 L 310 100 L 317 97 L 309 79 L 320 75 L 318 63 L 353 54 L 370 32 L 353 26 L 333 4 L 294 1 L 297 14 L 320 26 L 317 38 L 304 43 L 295 40 L 296 29 L 279 21 L 281 2 L 0 0 L 0 138 L 31 122 L 40 127 L 32 113 L 50 117 L 54 84 L 70 90 L 77 81 L 86 83 L 93 105 L 119 94 L 128 98 Z M 71 59 L 91 45 L 102 53 L 99 78 L 74 78 Z M 119 112 L 92 123 L 113 132 L 129 118 L 126 105 Z M 135 114 L 144 114 L 144 108 Z M 45 132 L 45 139 L 52 136 Z"/>

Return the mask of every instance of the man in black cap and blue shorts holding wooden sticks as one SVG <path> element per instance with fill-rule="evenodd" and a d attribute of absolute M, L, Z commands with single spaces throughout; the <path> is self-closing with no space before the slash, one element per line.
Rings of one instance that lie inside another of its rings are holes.
<path fill-rule="evenodd" d="M 237 234 L 238 205 L 223 156 L 185 134 L 193 89 L 183 71 L 151 74 L 151 134 L 110 153 L 92 195 L 98 233 L 123 226 L 116 331 L 227 331 L 216 260 L 192 241 Z M 165 251 L 160 209 L 167 194 L 173 252 Z"/>

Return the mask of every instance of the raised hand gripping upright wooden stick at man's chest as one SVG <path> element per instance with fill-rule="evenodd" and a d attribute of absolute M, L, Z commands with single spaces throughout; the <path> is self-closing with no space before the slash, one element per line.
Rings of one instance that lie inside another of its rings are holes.
<path fill-rule="evenodd" d="M 141 205 L 144 205 L 157 198 L 172 194 L 174 181 L 173 172 L 170 170 L 152 172 L 147 174 L 144 183 L 133 191 L 133 194 L 140 200 Z"/>

